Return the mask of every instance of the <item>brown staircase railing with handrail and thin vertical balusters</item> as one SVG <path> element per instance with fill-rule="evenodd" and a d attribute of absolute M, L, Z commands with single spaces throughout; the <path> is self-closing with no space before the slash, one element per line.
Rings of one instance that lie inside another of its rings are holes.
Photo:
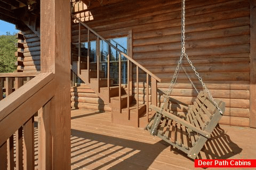
<path fill-rule="evenodd" d="M 96 57 L 97 57 L 97 80 L 98 83 L 100 81 L 100 40 L 105 41 L 105 43 L 108 44 L 109 47 L 113 48 L 116 50 L 116 52 L 118 53 L 118 86 L 119 86 L 119 101 L 121 101 L 121 96 L 122 96 L 122 84 L 121 84 L 121 67 L 122 67 L 122 61 L 121 58 L 125 58 L 127 60 L 127 108 L 128 111 L 130 111 L 130 95 L 134 95 L 135 100 L 137 101 L 137 113 L 139 112 L 139 79 L 143 80 L 143 82 L 146 82 L 146 87 L 145 90 L 147 91 L 146 94 L 146 101 L 145 104 L 147 106 L 147 117 L 148 117 L 148 111 L 149 111 L 149 95 L 151 94 L 151 104 L 153 105 L 157 105 L 157 81 L 161 82 L 161 79 L 159 79 L 156 75 L 154 75 L 153 73 L 151 73 L 149 70 L 147 70 L 145 67 L 143 67 L 141 64 L 139 64 L 138 62 L 136 62 L 135 60 L 133 60 L 133 58 L 131 58 L 130 56 L 126 55 L 124 52 L 122 52 L 122 50 L 118 49 L 115 45 L 111 44 L 108 40 L 106 40 L 105 38 L 101 37 L 100 35 L 98 35 L 97 32 L 95 32 L 94 30 L 92 30 L 88 25 L 86 25 L 84 22 L 82 22 L 81 20 L 79 20 L 74 14 L 71 14 L 71 16 L 74 18 L 74 21 L 77 23 L 78 22 L 78 64 L 77 64 L 77 72 L 81 73 L 81 25 L 83 27 L 85 27 L 85 29 L 83 29 L 83 42 L 84 40 L 86 40 L 87 42 L 87 70 L 89 73 L 90 70 L 90 41 L 95 40 L 96 41 Z M 87 29 L 87 36 L 85 36 L 85 32 Z M 133 70 L 135 70 L 135 76 L 131 76 L 134 75 Z M 150 82 L 150 77 L 151 77 L 151 82 Z M 110 52 L 108 52 L 108 56 L 107 56 L 107 87 L 108 87 L 108 94 L 109 94 L 109 90 L 110 90 Z M 90 82 L 90 76 L 88 76 L 88 82 Z M 136 94 L 132 94 L 132 85 L 134 81 L 132 81 L 132 79 L 135 79 L 135 86 L 134 88 L 137 88 L 137 92 Z M 149 84 L 151 83 L 151 91 L 149 91 Z M 100 86 L 99 86 L 100 88 Z M 99 90 L 99 89 L 98 89 Z M 121 108 L 121 102 L 120 102 L 120 113 L 122 113 L 122 108 Z M 129 115 L 129 114 L 128 114 Z M 139 113 L 138 113 L 139 116 Z"/>

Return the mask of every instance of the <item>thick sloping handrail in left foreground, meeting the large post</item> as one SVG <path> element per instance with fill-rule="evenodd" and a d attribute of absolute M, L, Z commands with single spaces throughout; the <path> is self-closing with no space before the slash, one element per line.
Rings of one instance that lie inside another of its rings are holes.
<path fill-rule="evenodd" d="M 55 94 L 54 74 L 41 73 L 0 101 L 0 146 Z"/>

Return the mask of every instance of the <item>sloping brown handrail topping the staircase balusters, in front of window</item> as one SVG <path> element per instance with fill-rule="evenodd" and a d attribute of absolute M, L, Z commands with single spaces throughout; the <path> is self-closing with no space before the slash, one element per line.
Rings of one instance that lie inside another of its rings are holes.
<path fill-rule="evenodd" d="M 113 44 L 109 43 L 109 41 L 107 41 L 105 38 L 101 37 L 97 32 L 95 32 L 94 30 L 92 30 L 88 25 L 86 25 L 84 22 L 82 22 L 81 20 L 79 20 L 74 14 L 71 14 L 71 16 L 76 19 L 79 23 L 81 23 L 84 27 L 86 27 L 88 30 L 90 30 L 92 33 L 94 33 L 94 35 L 96 35 L 97 37 L 99 37 L 101 40 L 105 41 L 109 46 L 113 47 L 115 50 L 118 51 L 119 54 L 122 54 L 123 56 L 125 56 L 128 60 L 130 60 L 132 63 L 134 63 L 135 65 L 139 66 L 140 69 L 142 69 L 143 71 L 145 71 L 146 73 L 148 73 L 151 77 L 153 77 L 154 79 L 156 79 L 158 82 L 161 82 L 161 79 L 159 79 L 155 74 L 151 73 L 149 70 L 147 70 L 145 67 L 143 67 L 141 64 L 139 64 L 138 62 L 136 62 L 135 60 L 133 60 L 131 57 L 129 57 L 128 55 L 126 55 L 125 53 L 123 53 L 121 50 L 119 50 L 117 47 L 115 47 Z"/>

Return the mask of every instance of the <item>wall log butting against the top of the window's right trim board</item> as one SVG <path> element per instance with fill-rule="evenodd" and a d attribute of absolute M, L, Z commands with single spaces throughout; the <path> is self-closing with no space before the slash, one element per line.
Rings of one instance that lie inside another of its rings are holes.
<path fill-rule="evenodd" d="M 243 27 L 244 25 L 249 25 L 250 19 L 248 16 L 244 16 L 241 18 L 234 18 L 229 20 L 219 20 L 219 21 L 212 21 L 211 23 L 196 23 L 196 24 L 186 24 L 186 35 L 190 32 L 197 32 L 197 31 L 210 31 L 210 30 L 217 30 L 217 29 L 228 29 L 230 27 Z M 162 23 L 161 25 L 164 25 Z M 167 25 L 165 26 L 167 27 Z M 158 36 L 169 36 L 175 35 L 180 33 L 180 25 L 178 27 L 167 27 L 162 29 L 156 30 L 141 30 L 140 32 L 134 32 L 132 38 L 141 39 L 141 38 L 150 38 L 150 37 L 158 37 Z"/>

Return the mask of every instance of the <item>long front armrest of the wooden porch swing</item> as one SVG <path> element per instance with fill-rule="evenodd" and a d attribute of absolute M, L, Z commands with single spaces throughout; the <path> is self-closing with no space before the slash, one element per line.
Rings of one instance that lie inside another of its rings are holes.
<path fill-rule="evenodd" d="M 149 108 L 153 109 L 154 111 L 156 112 L 161 112 L 161 108 L 157 107 L 157 106 L 154 106 L 154 105 L 150 105 Z M 175 116 L 169 112 L 166 112 L 166 111 L 162 111 L 162 114 L 166 117 L 169 117 L 171 118 L 172 120 L 176 121 L 176 122 L 179 122 L 180 124 L 186 126 L 187 128 L 193 130 L 193 131 L 196 131 L 197 133 L 203 135 L 204 137 L 206 138 L 210 138 L 211 137 L 211 134 L 209 132 L 206 132 L 206 131 L 202 131 L 201 129 L 199 128 L 196 128 L 196 126 L 194 125 L 191 125 L 190 123 L 188 123 L 187 121 L 183 120 L 182 118 L 178 117 L 178 116 Z"/>

